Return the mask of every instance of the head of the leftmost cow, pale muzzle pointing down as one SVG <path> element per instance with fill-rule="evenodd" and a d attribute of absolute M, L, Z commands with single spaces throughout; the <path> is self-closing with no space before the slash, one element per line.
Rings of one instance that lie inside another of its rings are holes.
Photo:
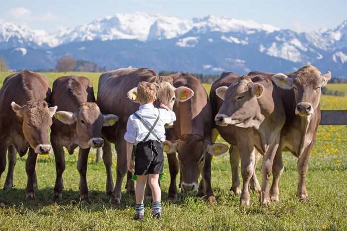
<path fill-rule="evenodd" d="M 48 108 L 44 100 L 29 101 L 21 107 L 11 103 L 12 110 L 23 120 L 22 129 L 25 139 L 37 154 L 48 154 L 51 147 L 48 143 L 48 130 L 52 125 L 52 116 L 57 107 Z"/>

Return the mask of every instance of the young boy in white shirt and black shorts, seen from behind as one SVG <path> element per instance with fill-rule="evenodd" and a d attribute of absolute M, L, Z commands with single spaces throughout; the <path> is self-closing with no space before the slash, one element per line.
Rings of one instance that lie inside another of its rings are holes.
<path fill-rule="evenodd" d="M 164 104 L 160 105 L 162 109 L 153 106 L 156 100 L 156 87 L 153 83 L 141 82 L 136 93 L 140 107 L 136 113 L 129 116 L 127 132 L 124 136 L 127 141 L 128 170 L 137 177 L 134 219 L 143 220 L 143 197 L 147 179 L 153 196 L 152 214 L 161 218 L 162 192 L 158 180 L 159 175 L 163 174 L 164 166 L 162 145 L 165 141 L 164 125 L 175 121 L 176 116 Z M 135 165 L 131 156 L 134 145 L 136 146 Z"/>

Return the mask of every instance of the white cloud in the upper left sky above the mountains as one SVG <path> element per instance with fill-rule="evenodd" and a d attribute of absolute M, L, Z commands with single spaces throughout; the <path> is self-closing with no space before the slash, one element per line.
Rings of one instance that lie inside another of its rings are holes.
<path fill-rule="evenodd" d="M 58 19 L 57 16 L 49 12 L 41 15 L 32 14 L 30 10 L 24 7 L 11 8 L 7 11 L 7 15 L 13 19 L 26 21 L 55 21 Z"/>

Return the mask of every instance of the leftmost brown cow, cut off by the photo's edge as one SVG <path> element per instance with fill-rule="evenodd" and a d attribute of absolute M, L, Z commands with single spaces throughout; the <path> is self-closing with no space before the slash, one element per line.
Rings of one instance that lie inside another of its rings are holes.
<path fill-rule="evenodd" d="M 48 130 L 57 108 L 48 108 L 44 101 L 49 100 L 50 95 L 48 79 L 26 70 L 6 77 L 0 90 L 0 177 L 6 167 L 7 148 L 9 167 L 4 188 L 13 185 L 17 151 L 23 156 L 29 149 L 25 164 L 28 175 L 27 200 L 35 199 L 38 154 L 47 154 L 51 149 Z"/>

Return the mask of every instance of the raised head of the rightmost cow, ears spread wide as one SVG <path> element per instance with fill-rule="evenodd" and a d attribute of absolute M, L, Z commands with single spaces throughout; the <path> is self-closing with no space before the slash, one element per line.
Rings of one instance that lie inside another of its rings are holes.
<path fill-rule="evenodd" d="M 279 73 L 271 78 L 277 86 L 294 90 L 295 114 L 307 117 L 312 115 L 318 107 L 321 88 L 327 84 L 330 77 L 331 72 L 322 75 L 317 68 L 306 65 L 291 77 Z"/>

